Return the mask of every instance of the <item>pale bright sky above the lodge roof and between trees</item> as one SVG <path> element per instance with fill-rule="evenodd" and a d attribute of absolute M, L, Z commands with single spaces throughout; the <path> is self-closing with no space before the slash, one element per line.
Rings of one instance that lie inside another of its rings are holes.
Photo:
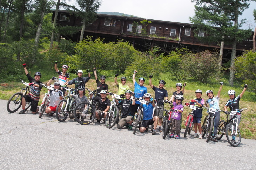
<path fill-rule="evenodd" d="M 70 4 L 75 4 L 71 0 Z M 101 0 L 98 12 L 120 12 L 146 19 L 190 23 L 194 15 L 194 3 L 191 0 Z M 247 19 L 242 29 L 254 30 L 256 23 L 252 15 L 256 2 L 251 2 L 239 19 Z"/>

